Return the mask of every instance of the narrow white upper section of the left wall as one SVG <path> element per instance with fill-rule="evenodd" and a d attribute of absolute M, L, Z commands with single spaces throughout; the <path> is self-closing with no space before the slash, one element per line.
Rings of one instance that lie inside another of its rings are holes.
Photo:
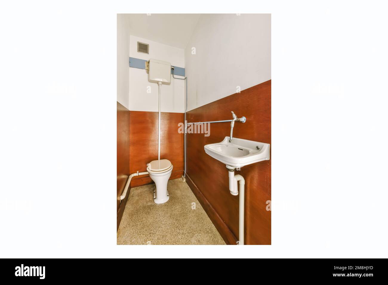
<path fill-rule="evenodd" d="M 117 14 L 117 101 L 129 109 L 129 21 Z"/>

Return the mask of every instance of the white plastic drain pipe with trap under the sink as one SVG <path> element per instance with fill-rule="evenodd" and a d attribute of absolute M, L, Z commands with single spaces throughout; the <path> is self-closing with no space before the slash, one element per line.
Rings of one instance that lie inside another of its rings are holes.
<path fill-rule="evenodd" d="M 236 168 L 229 165 L 226 166 L 229 170 L 229 191 L 230 194 L 237 196 L 239 191 L 237 190 L 237 181 L 240 184 L 240 197 L 239 197 L 239 245 L 244 245 L 244 186 L 245 179 L 240 174 L 234 175 Z"/>

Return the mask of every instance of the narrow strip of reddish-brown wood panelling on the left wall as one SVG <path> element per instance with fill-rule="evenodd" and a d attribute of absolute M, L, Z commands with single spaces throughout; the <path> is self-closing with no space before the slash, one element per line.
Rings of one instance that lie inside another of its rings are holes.
<path fill-rule="evenodd" d="M 130 175 L 130 111 L 117 102 L 117 197 L 123 193 Z M 129 193 L 129 192 L 127 192 Z M 117 200 L 117 229 L 123 216 L 128 195 L 121 202 Z"/>

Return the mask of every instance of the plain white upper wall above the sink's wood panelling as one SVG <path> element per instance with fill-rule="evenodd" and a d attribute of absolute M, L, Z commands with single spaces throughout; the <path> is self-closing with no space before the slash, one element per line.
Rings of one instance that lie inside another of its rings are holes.
<path fill-rule="evenodd" d="M 185 71 L 187 111 L 271 79 L 271 15 L 201 14 Z"/>

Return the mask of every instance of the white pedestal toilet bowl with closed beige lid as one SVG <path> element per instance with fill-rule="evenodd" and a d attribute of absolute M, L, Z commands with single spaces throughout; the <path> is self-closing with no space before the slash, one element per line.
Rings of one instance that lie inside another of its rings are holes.
<path fill-rule="evenodd" d="M 163 204 L 170 199 L 167 191 L 167 182 L 171 176 L 172 164 L 168 159 L 151 161 L 147 164 L 149 177 L 155 182 L 154 202 Z"/>

